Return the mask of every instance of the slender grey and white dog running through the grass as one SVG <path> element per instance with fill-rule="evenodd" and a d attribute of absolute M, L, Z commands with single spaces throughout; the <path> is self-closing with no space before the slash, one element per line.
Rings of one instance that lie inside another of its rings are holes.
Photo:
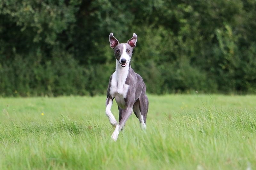
<path fill-rule="evenodd" d="M 112 139 L 116 141 L 118 134 L 123 129 L 125 122 L 132 114 L 140 121 L 141 128 L 146 129 L 146 118 L 148 114 L 148 97 L 146 95 L 146 85 L 141 76 L 131 68 L 132 49 L 136 46 L 137 35 L 133 33 L 132 38 L 127 43 L 119 44 L 118 40 L 109 35 L 110 47 L 114 49 L 116 57 L 116 71 L 110 76 L 106 115 L 112 126 L 116 127 L 112 134 Z M 114 98 L 119 110 L 119 123 L 111 113 L 111 106 Z"/>

